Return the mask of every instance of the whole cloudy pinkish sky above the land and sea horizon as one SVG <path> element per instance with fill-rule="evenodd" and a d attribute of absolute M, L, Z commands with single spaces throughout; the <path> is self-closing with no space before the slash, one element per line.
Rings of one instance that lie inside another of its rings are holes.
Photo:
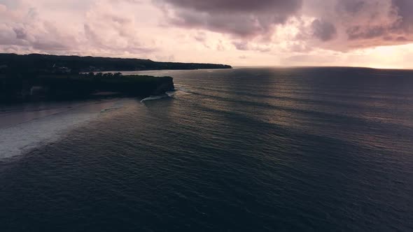
<path fill-rule="evenodd" d="M 413 68 L 413 0 L 0 0 L 0 52 Z"/>

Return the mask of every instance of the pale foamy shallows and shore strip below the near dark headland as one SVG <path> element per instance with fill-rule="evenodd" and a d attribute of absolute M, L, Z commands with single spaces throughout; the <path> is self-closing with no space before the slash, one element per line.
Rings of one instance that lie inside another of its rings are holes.
<path fill-rule="evenodd" d="M 0 113 L 0 161 L 55 143 L 73 129 L 110 116 L 134 99 L 24 103 Z"/>

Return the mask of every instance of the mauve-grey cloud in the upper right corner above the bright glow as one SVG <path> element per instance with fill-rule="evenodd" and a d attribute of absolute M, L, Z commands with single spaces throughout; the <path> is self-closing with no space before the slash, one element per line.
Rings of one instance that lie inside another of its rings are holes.
<path fill-rule="evenodd" d="M 349 14 L 344 24 L 349 45 L 354 48 L 378 45 L 400 45 L 413 41 L 413 2 L 391 1 L 350 1 L 353 6 L 346 8 Z M 349 19 L 352 17 L 352 19 Z"/>

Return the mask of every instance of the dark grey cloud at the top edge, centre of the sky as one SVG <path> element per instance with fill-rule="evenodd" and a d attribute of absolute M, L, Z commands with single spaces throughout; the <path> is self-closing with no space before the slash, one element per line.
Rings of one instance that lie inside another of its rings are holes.
<path fill-rule="evenodd" d="M 157 0 L 180 27 L 208 29 L 239 37 L 262 36 L 302 7 L 302 0 Z"/>

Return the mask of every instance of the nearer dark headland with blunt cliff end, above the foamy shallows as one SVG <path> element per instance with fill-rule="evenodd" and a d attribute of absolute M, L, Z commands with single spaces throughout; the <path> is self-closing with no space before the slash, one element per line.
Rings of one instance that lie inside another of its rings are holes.
<path fill-rule="evenodd" d="M 24 83 L 24 85 L 22 85 Z M 148 97 L 174 90 L 170 77 L 146 75 L 41 75 L 31 80 L 0 78 L 0 102 L 96 98 L 99 92 Z"/>

